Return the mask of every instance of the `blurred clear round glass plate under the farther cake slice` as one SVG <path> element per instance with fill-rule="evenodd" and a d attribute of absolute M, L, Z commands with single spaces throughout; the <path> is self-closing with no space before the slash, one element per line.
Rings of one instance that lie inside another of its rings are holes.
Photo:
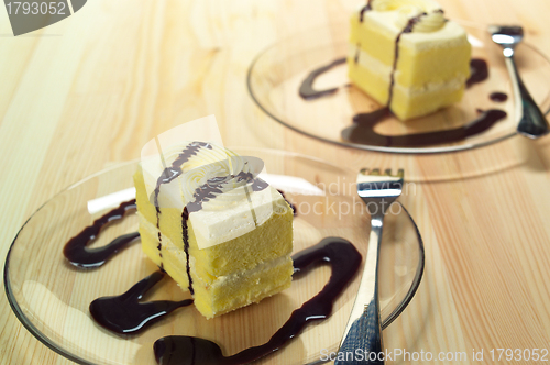
<path fill-rule="evenodd" d="M 393 153 L 443 153 L 470 150 L 508 139 L 516 134 L 512 84 L 499 46 L 491 41 L 485 26 L 460 22 L 472 44 L 472 58 L 485 59 L 488 78 L 468 88 L 461 102 L 424 118 L 400 122 L 387 118 L 376 124 L 384 135 L 403 135 L 458 128 L 473 121 L 477 109 L 499 109 L 507 113 L 484 133 L 452 144 L 420 147 L 388 147 L 346 142 L 341 131 L 352 124 L 353 115 L 382 108 L 353 85 L 349 85 L 346 65 L 340 64 L 319 76 L 314 87 L 324 90 L 338 87 L 332 95 L 305 100 L 299 87 L 315 69 L 348 55 L 350 45 L 348 22 L 331 23 L 285 38 L 262 52 L 249 69 L 249 92 L 256 104 L 277 122 L 308 136 L 361 150 Z M 550 62 L 537 48 L 521 43 L 516 62 L 519 74 L 540 108 L 550 111 Z M 506 102 L 490 100 L 494 91 L 508 96 Z"/>

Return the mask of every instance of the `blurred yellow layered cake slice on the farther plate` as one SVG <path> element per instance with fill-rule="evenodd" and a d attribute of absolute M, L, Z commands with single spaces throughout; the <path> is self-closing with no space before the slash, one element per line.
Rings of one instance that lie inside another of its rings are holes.
<path fill-rule="evenodd" d="M 370 0 L 351 19 L 351 81 L 400 120 L 460 101 L 470 76 L 465 31 L 431 0 Z"/>

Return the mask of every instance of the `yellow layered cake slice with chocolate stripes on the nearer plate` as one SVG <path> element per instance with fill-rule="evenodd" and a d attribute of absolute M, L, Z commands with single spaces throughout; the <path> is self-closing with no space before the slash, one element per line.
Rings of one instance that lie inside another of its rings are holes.
<path fill-rule="evenodd" d="M 253 157 L 202 142 L 142 161 L 134 175 L 144 253 L 207 318 L 288 288 L 293 210 Z"/>

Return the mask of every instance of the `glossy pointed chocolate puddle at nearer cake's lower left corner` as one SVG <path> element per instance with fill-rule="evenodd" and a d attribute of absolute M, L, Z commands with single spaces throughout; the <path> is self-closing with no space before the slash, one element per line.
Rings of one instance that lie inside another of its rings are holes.
<path fill-rule="evenodd" d="M 120 296 L 101 297 L 90 303 L 91 317 L 106 329 L 120 334 L 134 334 L 163 319 L 174 310 L 193 303 L 193 299 L 182 301 L 156 300 L 140 302 L 164 274 L 153 273 Z"/>

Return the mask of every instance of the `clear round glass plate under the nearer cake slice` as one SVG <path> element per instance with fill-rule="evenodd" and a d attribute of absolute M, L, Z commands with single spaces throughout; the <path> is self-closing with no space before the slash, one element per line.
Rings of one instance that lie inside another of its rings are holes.
<path fill-rule="evenodd" d="M 354 191 L 355 172 L 286 152 L 233 150 L 262 158 L 268 174 L 299 178 L 299 189 L 296 179 L 285 186 L 287 199 L 298 210 L 294 221 L 295 252 L 326 236 L 341 236 L 365 255 L 370 223 Z M 70 186 L 38 209 L 12 243 L 4 270 L 9 301 L 26 329 L 55 352 L 80 364 L 156 364 L 155 340 L 185 334 L 215 341 L 224 355 L 231 355 L 267 342 L 290 313 L 328 281 L 330 268 L 321 265 L 301 275 L 282 294 L 219 318 L 206 320 L 189 306 L 140 334 L 118 335 L 105 330 L 92 320 L 90 302 L 98 297 L 122 294 L 158 268 L 142 253 L 140 243 L 95 269 L 72 266 L 62 251 L 70 237 L 111 209 L 91 214 L 89 202 L 133 187 L 136 167 L 136 161 L 124 163 Z M 424 246 L 414 221 L 400 204 L 392 208 L 381 251 L 380 290 L 386 327 L 411 299 L 424 269 Z M 136 214 L 128 214 L 103 230 L 90 246 L 105 245 L 136 228 Z M 359 280 L 356 275 L 334 302 L 327 320 L 307 325 L 301 334 L 260 363 L 299 365 L 319 361 L 322 350 L 337 351 Z M 152 291 L 145 300 L 189 297 L 167 276 Z"/>

